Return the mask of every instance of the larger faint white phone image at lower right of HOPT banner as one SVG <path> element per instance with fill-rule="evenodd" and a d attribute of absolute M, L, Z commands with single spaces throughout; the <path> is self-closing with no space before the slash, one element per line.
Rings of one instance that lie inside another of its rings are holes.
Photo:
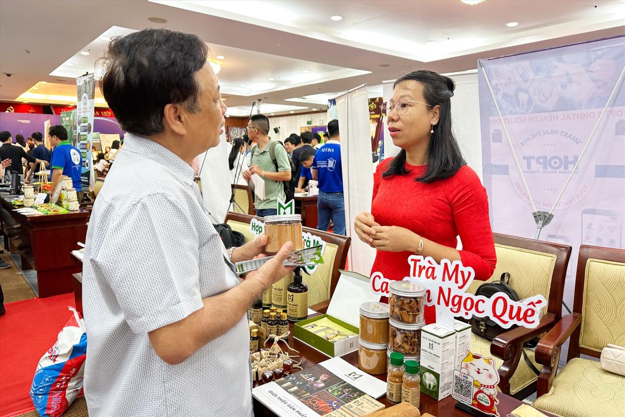
<path fill-rule="evenodd" d="M 622 215 L 614 210 L 582 210 L 582 244 L 621 249 Z"/>

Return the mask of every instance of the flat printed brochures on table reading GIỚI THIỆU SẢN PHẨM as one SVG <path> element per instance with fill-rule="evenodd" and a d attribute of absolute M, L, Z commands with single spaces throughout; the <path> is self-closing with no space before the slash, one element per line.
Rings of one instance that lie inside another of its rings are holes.
<path fill-rule="evenodd" d="M 252 389 L 252 395 L 278 416 L 358 417 L 384 408 L 376 401 L 386 383 L 332 358 Z"/>

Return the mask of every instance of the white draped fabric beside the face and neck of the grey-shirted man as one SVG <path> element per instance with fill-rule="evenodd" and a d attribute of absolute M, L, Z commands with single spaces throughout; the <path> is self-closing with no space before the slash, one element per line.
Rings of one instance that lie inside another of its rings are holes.
<path fill-rule="evenodd" d="M 197 157 L 201 169 L 199 177 L 202 180 L 204 210 L 213 224 L 223 223 L 230 203 L 229 152 L 230 145 L 223 133 L 219 136 L 219 145 Z"/>

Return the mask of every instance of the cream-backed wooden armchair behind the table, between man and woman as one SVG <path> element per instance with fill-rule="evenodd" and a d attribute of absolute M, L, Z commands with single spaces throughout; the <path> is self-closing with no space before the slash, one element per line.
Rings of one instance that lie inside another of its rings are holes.
<path fill-rule="evenodd" d="M 262 217 L 228 212 L 224 223 L 229 225 L 232 230 L 241 232 L 245 236 L 246 242 L 248 242 L 254 239 L 254 235 L 249 229 L 252 219 L 261 220 L 262 222 Z M 323 254 L 325 263 L 319 265 L 317 270 L 311 275 L 302 274 L 304 282 L 309 286 L 308 304 L 312 306 L 312 304 L 330 299 L 334 293 L 341 275 L 339 269 L 345 268 L 347 250 L 349 250 L 349 245 L 351 245 L 351 238 L 322 232 L 309 227 L 302 227 L 302 232 L 309 232 L 311 235 L 319 236 L 326 242 L 326 250 Z"/>

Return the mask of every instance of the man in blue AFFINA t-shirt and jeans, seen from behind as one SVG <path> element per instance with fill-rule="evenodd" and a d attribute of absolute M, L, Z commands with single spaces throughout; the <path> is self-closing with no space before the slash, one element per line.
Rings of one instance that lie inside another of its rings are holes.
<path fill-rule="evenodd" d="M 334 233 L 345 234 L 345 205 L 343 202 L 343 170 L 341 165 L 341 138 L 339 121 L 327 123 L 330 140 L 317 150 L 311 165 L 312 179 L 319 182 L 317 229 L 327 231 L 330 220 Z"/>

